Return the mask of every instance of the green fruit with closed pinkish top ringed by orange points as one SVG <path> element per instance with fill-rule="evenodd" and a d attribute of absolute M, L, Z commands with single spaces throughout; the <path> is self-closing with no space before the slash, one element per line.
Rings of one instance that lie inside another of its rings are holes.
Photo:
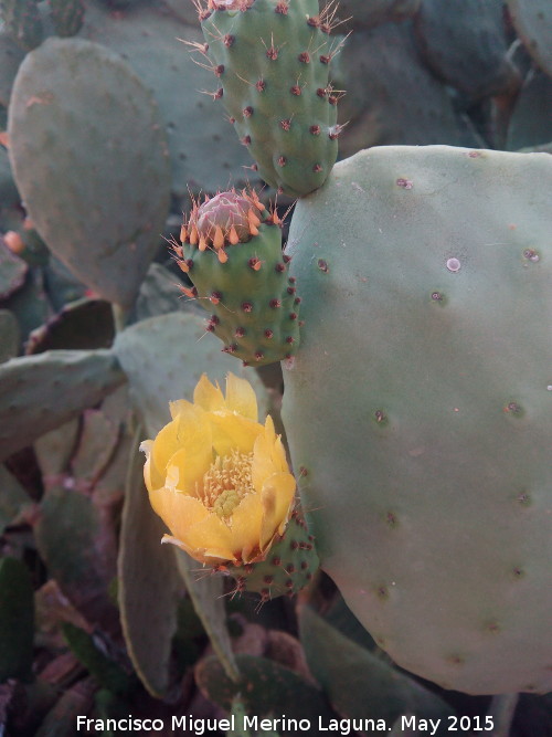
<path fill-rule="evenodd" d="M 300 298 L 282 253 L 280 224 L 253 190 L 231 190 L 195 203 L 182 245 L 173 245 L 194 285 L 181 287 L 183 294 L 213 313 L 208 331 L 253 366 L 290 358 L 299 345 Z"/>

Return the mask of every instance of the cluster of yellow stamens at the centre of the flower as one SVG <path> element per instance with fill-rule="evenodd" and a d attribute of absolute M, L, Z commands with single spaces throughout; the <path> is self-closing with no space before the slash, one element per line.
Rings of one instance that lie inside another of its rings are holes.
<path fill-rule="evenodd" d="M 230 455 L 217 455 L 203 475 L 198 496 L 226 523 L 244 496 L 254 492 L 252 463 L 253 453 L 241 453 L 234 449 Z"/>

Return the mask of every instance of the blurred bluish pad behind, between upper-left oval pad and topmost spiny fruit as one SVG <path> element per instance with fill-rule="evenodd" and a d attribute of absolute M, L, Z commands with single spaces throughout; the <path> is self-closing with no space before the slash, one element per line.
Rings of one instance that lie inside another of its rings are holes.
<path fill-rule="evenodd" d="M 82 31 L 124 56 L 155 96 L 167 130 L 172 191 L 179 198 L 216 191 L 229 179 L 242 187 L 247 178 L 257 179 L 243 168 L 247 151 L 231 125 L 216 115 L 209 97 L 198 94 L 212 86 L 212 75 L 192 62 L 182 43 L 203 39 L 193 3 L 184 3 L 194 15 L 193 25 L 179 22 L 160 3 L 136 3 L 124 21 L 109 8 L 87 3 Z"/>

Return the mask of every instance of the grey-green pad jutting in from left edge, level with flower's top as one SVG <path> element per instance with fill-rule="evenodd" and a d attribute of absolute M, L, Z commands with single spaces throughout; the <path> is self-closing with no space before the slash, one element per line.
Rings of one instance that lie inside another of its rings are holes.
<path fill-rule="evenodd" d="M 55 350 L 0 366 L 0 460 L 124 383 L 108 350 Z"/>

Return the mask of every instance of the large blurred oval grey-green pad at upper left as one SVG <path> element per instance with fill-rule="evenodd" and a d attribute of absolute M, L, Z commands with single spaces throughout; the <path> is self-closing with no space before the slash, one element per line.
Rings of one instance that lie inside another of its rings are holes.
<path fill-rule="evenodd" d="M 170 187 L 150 94 L 104 46 L 49 39 L 18 72 L 8 130 L 15 181 L 49 248 L 103 297 L 131 305 Z"/>

